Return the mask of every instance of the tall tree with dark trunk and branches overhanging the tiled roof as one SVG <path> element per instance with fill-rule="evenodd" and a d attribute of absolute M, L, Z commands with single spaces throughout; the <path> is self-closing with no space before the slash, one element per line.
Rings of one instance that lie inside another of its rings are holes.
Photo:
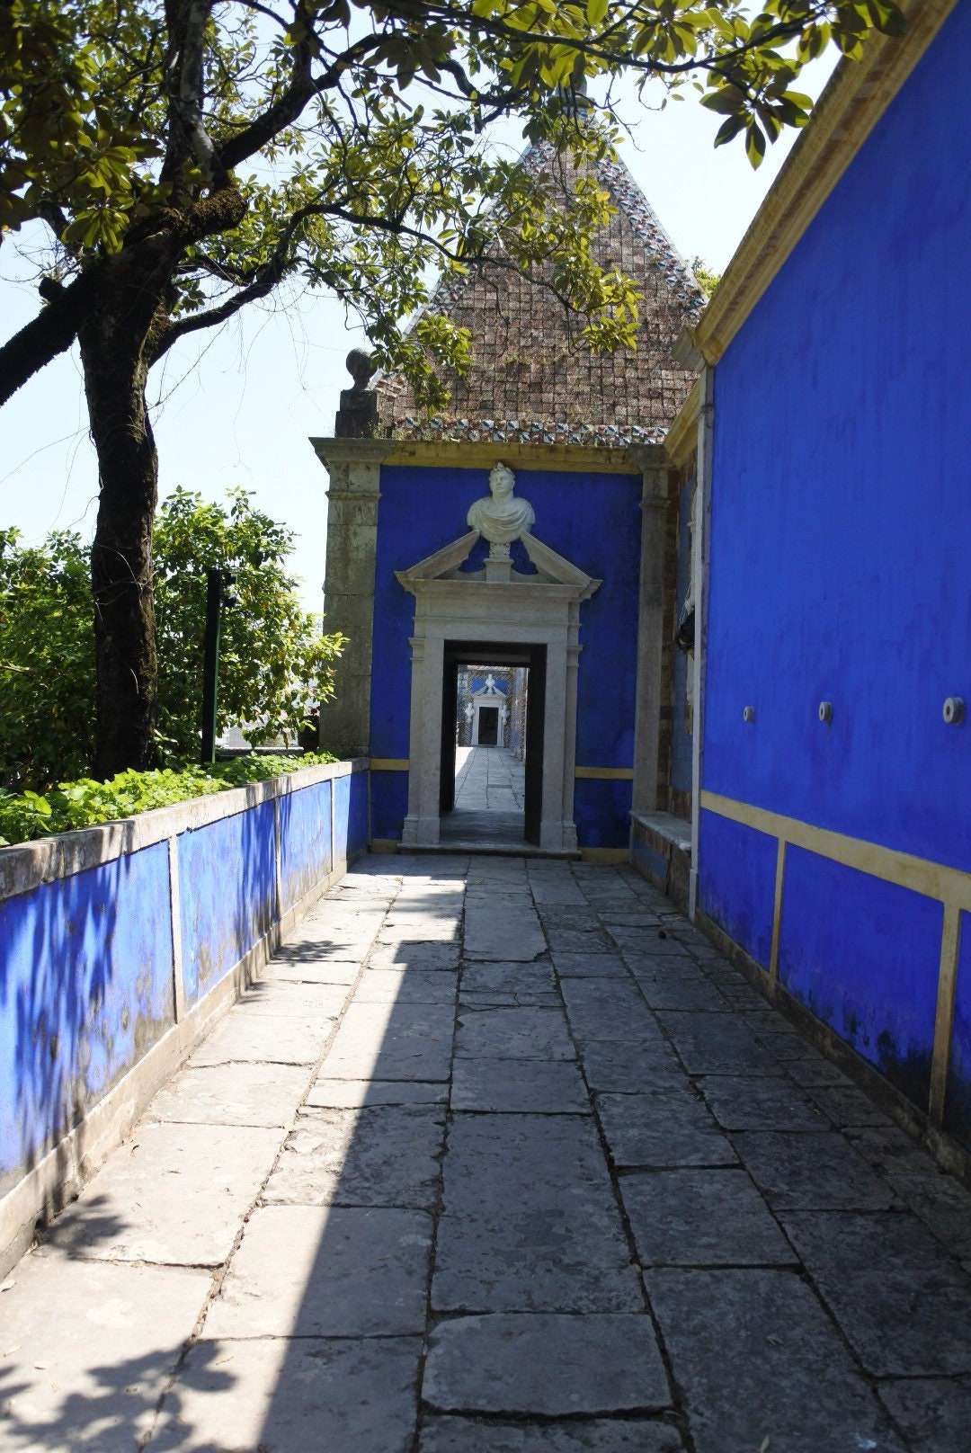
<path fill-rule="evenodd" d="M 608 199 L 583 161 L 587 80 L 695 77 L 757 163 L 807 119 L 802 64 L 872 28 L 890 0 L 4 0 L 0 227 L 42 227 L 38 315 L 0 347 L 0 402 L 78 344 L 99 513 L 92 551 L 96 772 L 148 766 L 157 715 L 151 539 L 157 456 L 148 371 L 285 278 L 356 309 L 379 360 L 443 402 L 429 359 L 467 339 L 426 315 L 433 263 L 497 264 L 554 288 L 593 349 L 629 346 L 637 294 L 592 262 Z M 416 78 L 420 87 L 411 87 Z M 488 122 L 526 118 L 557 167 L 490 160 Z M 606 110 L 609 119 L 609 106 Z"/>

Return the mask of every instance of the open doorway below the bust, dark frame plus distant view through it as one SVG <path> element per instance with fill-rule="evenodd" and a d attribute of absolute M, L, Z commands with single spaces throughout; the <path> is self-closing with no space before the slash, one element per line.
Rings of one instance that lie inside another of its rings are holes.
<path fill-rule="evenodd" d="M 446 641 L 439 840 L 539 844 L 545 645 Z"/>

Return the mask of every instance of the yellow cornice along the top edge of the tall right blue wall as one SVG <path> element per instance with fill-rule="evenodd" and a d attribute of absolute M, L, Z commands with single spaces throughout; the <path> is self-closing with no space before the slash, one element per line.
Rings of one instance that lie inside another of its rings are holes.
<path fill-rule="evenodd" d="M 903 39 L 871 32 L 859 61 L 840 61 L 693 330 L 708 363 L 722 356 L 955 4 L 904 0 Z"/>

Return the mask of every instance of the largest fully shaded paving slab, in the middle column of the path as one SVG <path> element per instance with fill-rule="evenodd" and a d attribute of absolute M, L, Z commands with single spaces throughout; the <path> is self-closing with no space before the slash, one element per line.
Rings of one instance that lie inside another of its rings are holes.
<path fill-rule="evenodd" d="M 641 1309 L 589 1117 L 456 1114 L 443 1200 L 432 1282 L 438 1311 Z"/>

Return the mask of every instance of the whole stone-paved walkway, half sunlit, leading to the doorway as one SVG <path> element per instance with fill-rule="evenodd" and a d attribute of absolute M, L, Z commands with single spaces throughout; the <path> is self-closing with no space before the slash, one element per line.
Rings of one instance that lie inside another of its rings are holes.
<path fill-rule="evenodd" d="M 0 1289 L 0 1447 L 967 1453 L 970 1268 L 631 869 L 371 859 Z"/>

